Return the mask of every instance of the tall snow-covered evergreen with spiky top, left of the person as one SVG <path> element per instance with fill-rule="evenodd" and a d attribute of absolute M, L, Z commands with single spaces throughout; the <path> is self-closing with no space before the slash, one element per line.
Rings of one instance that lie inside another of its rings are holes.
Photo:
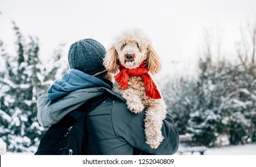
<path fill-rule="evenodd" d="M 17 54 L 5 54 L 3 87 L 8 89 L 2 96 L 4 105 L 1 105 L 2 116 L 5 119 L 5 132 L 1 138 L 5 140 L 10 151 L 25 151 L 33 146 L 38 138 L 42 128 L 36 126 L 36 92 L 40 89 L 40 80 L 42 64 L 38 61 L 38 42 L 33 41 L 28 45 L 20 33 L 19 28 L 14 23 L 16 32 Z M 38 124 L 38 123 L 37 123 Z M 39 135 L 38 135 L 39 133 Z"/>

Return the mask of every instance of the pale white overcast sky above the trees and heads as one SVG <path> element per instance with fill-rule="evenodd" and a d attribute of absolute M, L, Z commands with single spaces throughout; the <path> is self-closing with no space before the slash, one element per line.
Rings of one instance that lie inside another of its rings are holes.
<path fill-rule="evenodd" d="M 0 12 L 0 39 L 10 51 L 16 39 L 12 20 L 25 37 L 39 38 L 45 60 L 61 43 L 68 52 L 75 41 L 94 38 L 108 48 L 121 30 L 141 27 L 163 61 L 163 72 L 190 73 L 205 29 L 212 28 L 220 36 L 223 54 L 232 55 L 240 27 L 256 20 L 256 1 L 0 0 Z"/>

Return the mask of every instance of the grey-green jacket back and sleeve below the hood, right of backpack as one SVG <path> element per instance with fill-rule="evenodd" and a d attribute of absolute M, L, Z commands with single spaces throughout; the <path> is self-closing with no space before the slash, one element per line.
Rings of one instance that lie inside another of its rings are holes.
<path fill-rule="evenodd" d="M 173 121 L 164 120 L 164 141 L 158 149 L 145 143 L 145 112 L 135 114 L 124 101 L 111 96 L 90 114 L 87 120 L 89 154 L 133 154 L 133 148 L 150 154 L 173 154 L 178 149 L 178 132 Z M 166 148 L 167 147 L 167 148 Z"/>

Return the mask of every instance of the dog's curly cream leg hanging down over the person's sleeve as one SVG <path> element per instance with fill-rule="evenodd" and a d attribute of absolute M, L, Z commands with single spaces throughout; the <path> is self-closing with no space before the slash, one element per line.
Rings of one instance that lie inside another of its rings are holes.
<path fill-rule="evenodd" d="M 149 144 L 151 148 L 157 149 L 164 139 L 161 134 L 161 126 L 166 116 L 166 106 L 162 99 L 151 101 L 150 107 L 146 110 L 145 135 L 146 143 Z"/>

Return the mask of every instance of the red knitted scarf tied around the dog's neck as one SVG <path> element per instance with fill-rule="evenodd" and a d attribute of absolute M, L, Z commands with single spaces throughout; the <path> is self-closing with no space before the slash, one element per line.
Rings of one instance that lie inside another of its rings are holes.
<path fill-rule="evenodd" d="M 128 86 L 128 79 L 130 76 L 141 76 L 145 85 L 147 97 L 159 99 L 161 98 L 160 92 L 158 91 L 153 79 L 148 74 L 149 69 L 145 67 L 145 65 L 145 63 L 142 63 L 136 69 L 127 69 L 119 63 L 120 72 L 115 76 L 115 81 L 117 81 L 121 88 L 125 90 Z"/>

